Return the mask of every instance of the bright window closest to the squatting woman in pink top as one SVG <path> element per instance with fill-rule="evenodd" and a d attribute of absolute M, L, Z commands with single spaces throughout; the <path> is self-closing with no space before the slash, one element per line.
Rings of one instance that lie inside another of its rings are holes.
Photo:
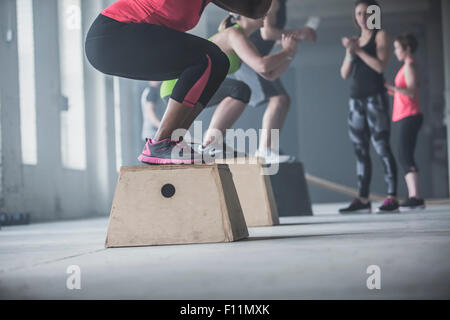
<path fill-rule="evenodd" d="M 80 0 L 59 0 L 61 152 L 63 166 L 86 169 L 83 35 Z"/>

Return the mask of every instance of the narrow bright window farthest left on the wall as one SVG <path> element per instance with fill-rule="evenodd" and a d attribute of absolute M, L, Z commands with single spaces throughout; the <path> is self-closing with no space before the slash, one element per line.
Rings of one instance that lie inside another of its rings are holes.
<path fill-rule="evenodd" d="M 17 0 L 16 5 L 22 162 L 27 165 L 36 165 L 37 131 L 33 0 Z"/>

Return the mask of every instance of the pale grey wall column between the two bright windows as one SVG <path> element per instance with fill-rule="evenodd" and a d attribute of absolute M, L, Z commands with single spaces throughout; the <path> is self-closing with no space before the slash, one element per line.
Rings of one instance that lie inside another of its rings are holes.
<path fill-rule="evenodd" d="M 58 0 L 33 1 L 38 164 L 29 168 L 27 206 L 36 221 L 63 215 Z M 28 168 L 27 168 L 28 169 Z"/>

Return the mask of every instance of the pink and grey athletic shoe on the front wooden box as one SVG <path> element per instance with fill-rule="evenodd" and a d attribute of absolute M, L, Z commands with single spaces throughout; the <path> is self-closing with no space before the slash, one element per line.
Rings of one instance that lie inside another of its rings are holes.
<path fill-rule="evenodd" d="M 193 164 L 201 155 L 194 152 L 185 142 L 170 139 L 155 141 L 147 139 L 138 160 L 145 164 Z"/>

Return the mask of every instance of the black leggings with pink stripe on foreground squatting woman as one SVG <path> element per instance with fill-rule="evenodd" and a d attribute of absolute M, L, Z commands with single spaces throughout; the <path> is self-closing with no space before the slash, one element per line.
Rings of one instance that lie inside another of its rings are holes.
<path fill-rule="evenodd" d="M 171 98 L 206 106 L 225 79 L 229 61 L 211 41 L 146 23 L 99 15 L 86 38 L 86 56 L 99 71 L 136 80 L 178 78 Z"/>

